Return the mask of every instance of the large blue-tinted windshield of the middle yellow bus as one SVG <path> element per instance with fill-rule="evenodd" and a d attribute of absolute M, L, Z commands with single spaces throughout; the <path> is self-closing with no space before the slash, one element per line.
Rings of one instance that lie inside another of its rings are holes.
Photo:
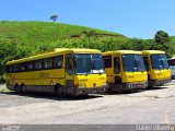
<path fill-rule="evenodd" d="M 145 71 L 143 58 L 141 55 L 122 55 L 122 68 L 126 72 Z"/>

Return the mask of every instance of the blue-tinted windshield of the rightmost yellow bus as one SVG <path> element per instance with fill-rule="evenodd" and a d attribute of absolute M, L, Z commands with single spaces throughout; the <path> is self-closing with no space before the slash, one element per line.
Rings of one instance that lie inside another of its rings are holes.
<path fill-rule="evenodd" d="M 165 55 L 151 55 L 152 68 L 155 70 L 168 69 L 168 63 Z"/>

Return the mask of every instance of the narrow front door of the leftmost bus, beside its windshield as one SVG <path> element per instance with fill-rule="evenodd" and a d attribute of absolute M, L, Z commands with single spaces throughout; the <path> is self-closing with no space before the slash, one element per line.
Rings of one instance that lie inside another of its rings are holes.
<path fill-rule="evenodd" d="M 66 86 L 73 87 L 73 57 L 72 55 L 66 55 Z"/>

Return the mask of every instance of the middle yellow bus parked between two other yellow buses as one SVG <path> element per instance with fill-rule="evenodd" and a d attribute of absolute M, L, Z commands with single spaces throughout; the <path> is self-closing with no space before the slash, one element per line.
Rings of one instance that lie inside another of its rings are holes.
<path fill-rule="evenodd" d="M 108 91 L 128 91 L 148 86 L 141 51 L 116 50 L 102 52 Z"/>

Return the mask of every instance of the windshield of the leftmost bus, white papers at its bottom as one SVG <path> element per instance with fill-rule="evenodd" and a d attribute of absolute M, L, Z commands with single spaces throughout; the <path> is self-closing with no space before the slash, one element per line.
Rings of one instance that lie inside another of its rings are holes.
<path fill-rule="evenodd" d="M 104 73 L 101 55 L 74 55 L 75 74 Z"/>

